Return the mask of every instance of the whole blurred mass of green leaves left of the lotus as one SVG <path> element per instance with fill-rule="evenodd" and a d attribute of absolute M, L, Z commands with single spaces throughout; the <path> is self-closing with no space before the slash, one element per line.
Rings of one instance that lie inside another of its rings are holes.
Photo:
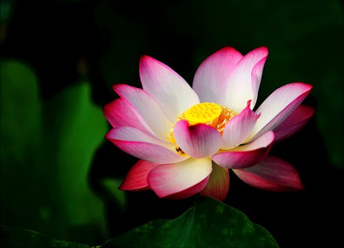
<path fill-rule="evenodd" d="M 30 67 L 2 60 L 0 69 L 2 224 L 67 240 L 103 239 L 103 203 L 87 175 L 107 123 L 89 98 L 89 84 L 42 103 Z"/>

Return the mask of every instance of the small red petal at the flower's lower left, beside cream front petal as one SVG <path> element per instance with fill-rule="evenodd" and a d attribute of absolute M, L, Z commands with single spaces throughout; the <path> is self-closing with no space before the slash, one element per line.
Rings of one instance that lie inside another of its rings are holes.
<path fill-rule="evenodd" d="M 148 190 L 148 173 L 157 166 L 160 166 L 160 164 L 155 164 L 145 160 L 139 160 L 136 164 L 133 165 L 133 167 L 130 168 L 119 189 L 133 191 Z"/>

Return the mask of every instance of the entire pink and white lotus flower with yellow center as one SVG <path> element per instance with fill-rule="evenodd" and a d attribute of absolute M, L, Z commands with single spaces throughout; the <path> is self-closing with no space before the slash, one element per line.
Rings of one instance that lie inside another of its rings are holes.
<path fill-rule="evenodd" d="M 198 67 L 191 87 L 167 65 L 142 56 L 143 89 L 115 84 L 120 98 L 103 109 L 113 127 L 106 138 L 139 158 L 120 189 L 153 190 L 169 199 L 200 193 L 223 201 L 232 169 L 257 188 L 302 190 L 297 170 L 268 153 L 313 115 L 301 104 L 312 86 L 286 84 L 253 110 L 267 57 L 266 47 L 245 56 L 224 47 Z"/>

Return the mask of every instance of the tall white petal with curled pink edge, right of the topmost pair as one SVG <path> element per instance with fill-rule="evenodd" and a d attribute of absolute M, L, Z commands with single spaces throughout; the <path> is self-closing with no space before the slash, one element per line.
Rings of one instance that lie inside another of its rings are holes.
<path fill-rule="evenodd" d="M 252 100 L 253 108 L 267 57 L 268 48 L 258 47 L 241 58 L 229 78 L 226 106 L 240 112 L 246 107 L 247 101 Z"/>

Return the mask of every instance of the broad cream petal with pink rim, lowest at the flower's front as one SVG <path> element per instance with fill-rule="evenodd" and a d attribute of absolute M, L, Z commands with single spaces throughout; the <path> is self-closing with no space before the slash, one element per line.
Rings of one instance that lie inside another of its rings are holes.
<path fill-rule="evenodd" d="M 148 183 L 159 197 L 186 198 L 203 190 L 211 170 L 210 158 L 190 158 L 154 168 L 148 174 Z"/>

